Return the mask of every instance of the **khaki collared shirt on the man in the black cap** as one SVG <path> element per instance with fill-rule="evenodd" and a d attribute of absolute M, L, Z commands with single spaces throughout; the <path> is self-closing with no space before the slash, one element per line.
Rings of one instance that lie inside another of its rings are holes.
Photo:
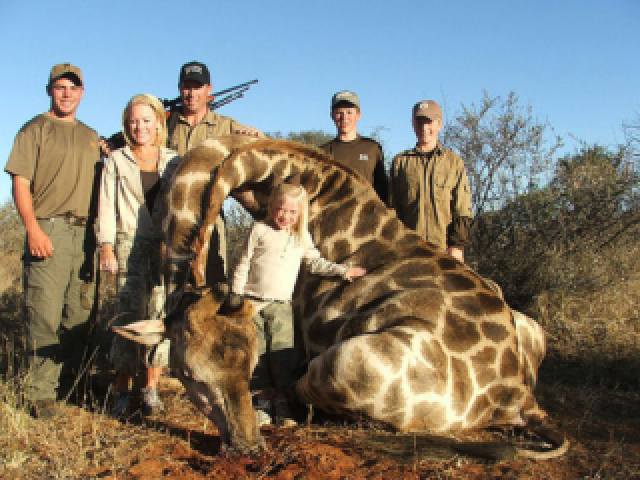
<path fill-rule="evenodd" d="M 243 125 L 233 118 L 218 115 L 209 110 L 195 127 L 191 127 L 182 114 L 174 112 L 167 121 L 167 128 L 169 129 L 167 146 L 183 157 L 188 150 L 200 145 L 208 138 L 230 135 L 242 129 Z"/>

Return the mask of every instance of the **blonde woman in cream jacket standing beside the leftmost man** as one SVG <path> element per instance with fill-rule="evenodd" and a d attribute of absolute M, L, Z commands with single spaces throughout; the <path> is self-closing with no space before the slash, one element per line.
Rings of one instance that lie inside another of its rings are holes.
<path fill-rule="evenodd" d="M 136 95 L 129 101 L 122 114 L 122 131 L 126 146 L 112 152 L 104 164 L 96 229 L 100 269 L 116 273 L 114 325 L 162 314 L 162 231 L 152 212 L 162 201 L 158 192 L 180 160 L 175 151 L 164 147 L 165 111 L 153 95 Z M 141 391 L 143 413 L 162 410 L 157 384 L 168 364 L 168 344 L 150 350 L 116 335 L 109 356 L 117 372 L 111 413 L 129 412 L 130 383 L 143 365 L 147 365 Z"/>

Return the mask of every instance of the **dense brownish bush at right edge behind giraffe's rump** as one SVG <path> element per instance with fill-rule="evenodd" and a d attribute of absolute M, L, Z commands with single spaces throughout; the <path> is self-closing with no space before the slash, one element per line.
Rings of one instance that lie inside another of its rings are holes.
<path fill-rule="evenodd" d="M 584 148 L 548 187 L 476 219 L 473 266 L 545 326 L 558 380 L 640 389 L 636 161 Z"/>

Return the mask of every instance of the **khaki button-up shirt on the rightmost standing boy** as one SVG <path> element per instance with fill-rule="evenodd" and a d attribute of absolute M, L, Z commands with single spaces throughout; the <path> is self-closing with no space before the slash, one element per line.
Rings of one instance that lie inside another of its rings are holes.
<path fill-rule="evenodd" d="M 413 148 L 396 155 L 390 171 L 390 205 L 407 227 L 445 250 L 451 246 L 449 226 L 473 217 L 464 162 L 440 144 L 433 152 Z"/>

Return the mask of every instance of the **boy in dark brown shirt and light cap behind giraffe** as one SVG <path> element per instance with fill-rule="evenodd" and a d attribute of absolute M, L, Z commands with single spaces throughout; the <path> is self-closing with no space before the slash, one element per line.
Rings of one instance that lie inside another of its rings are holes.
<path fill-rule="evenodd" d="M 386 203 L 388 186 L 382 147 L 375 140 L 358 135 L 361 117 L 360 100 L 355 93 L 349 90 L 336 93 L 331 97 L 331 119 L 337 135 L 320 148 L 333 155 L 336 162 L 361 174 Z"/>

